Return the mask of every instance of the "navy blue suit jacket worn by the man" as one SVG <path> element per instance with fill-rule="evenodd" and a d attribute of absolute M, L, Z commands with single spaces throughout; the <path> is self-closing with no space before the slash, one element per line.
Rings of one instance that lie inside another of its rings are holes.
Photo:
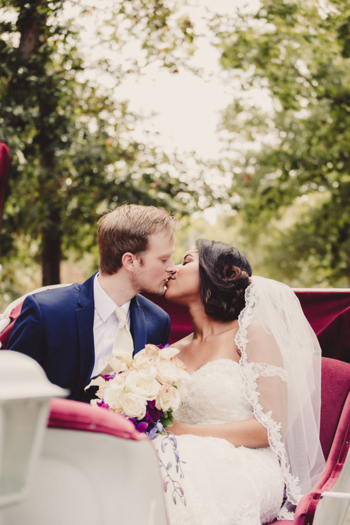
<path fill-rule="evenodd" d="M 89 401 L 84 387 L 94 365 L 93 279 L 26 297 L 7 348 L 25 353 L 43 367 L 48 379 L 68 388 L 70 398 Z M 130 331 L 134 353 L 146 343 L 166 344 L 170 332 L 167 313 L 136 295 L 130 303 Z"/>

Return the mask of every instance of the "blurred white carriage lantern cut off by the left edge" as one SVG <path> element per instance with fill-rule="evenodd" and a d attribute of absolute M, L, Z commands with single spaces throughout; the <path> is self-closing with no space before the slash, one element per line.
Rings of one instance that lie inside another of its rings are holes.
<path fill-rule="evenodd" d="M 49 401 L 68 391 L 32 358 L 0 351 L 0 508 L 27 493 L 47 424 Z"/>

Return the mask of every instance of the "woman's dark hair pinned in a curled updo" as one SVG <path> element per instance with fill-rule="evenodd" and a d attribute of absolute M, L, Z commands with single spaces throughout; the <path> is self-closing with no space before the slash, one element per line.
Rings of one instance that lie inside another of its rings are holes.
<path fill-rule="evenodd" d="M 207 316 L 220 321 L 238 319 L 250 284 L 248 259 L 226 243 L 198 239 L 200 296 Z"/>

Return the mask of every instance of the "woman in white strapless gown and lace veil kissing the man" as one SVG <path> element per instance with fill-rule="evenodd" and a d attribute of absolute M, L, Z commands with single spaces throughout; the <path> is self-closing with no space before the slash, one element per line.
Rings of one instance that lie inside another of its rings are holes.
<path fill-rule="evenodd" d="M 292 520 L 324 467 L 319 343 L 288 286 L 250 276 L 236 248 L 199 239 L 168 281 L 193 325 L 174 343 L 190 378 L 168 427 L 185 461 L 171 525 Z"/>

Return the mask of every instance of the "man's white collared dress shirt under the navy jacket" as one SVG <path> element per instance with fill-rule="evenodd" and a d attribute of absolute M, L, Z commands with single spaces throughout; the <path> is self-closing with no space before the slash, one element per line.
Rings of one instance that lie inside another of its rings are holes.
<path fill-rule="evenodd" d="M 95 303 L 95 312 L 93 317 L 93 340 L 95 347 L 95 363 L 91 377 L 96 377 L 107 366 L 102 358 L 112 355 L 113 342 L 119 321 L 114 310 L 116 305 L 114 301 L 102 290 L 98 275 L 93 280 L 93 299 Z M 121 305 L 126 312 L 126 321 L 130 328 L 130 301 Z"/>

